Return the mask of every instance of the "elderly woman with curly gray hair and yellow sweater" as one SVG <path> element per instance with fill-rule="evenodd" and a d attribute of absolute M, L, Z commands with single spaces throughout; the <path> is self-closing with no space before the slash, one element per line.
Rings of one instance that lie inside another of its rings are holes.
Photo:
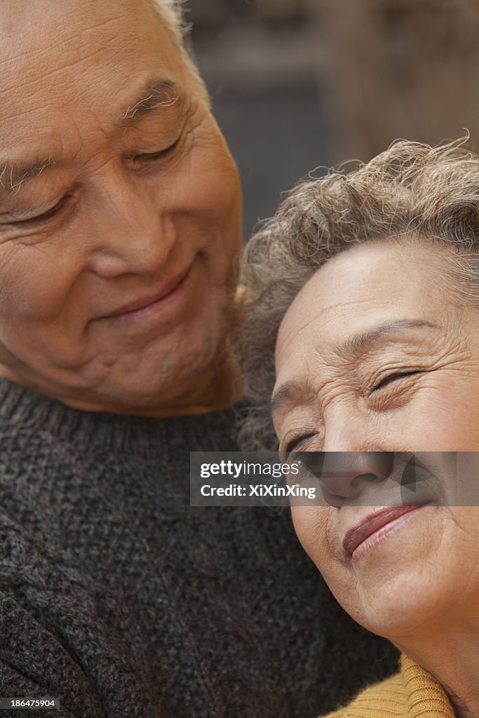
<path fill-rule="evenodd" d="M 479 715 L 479 492 L 457 494 L 478 454 L 457 454 L 459 485 L 450 454 L 479 451 L 478 246 L 479 157 L 406 141 L 302 183 L 248 246 L 244 439 L 273 446 L 272 396 L 281 452 L 346 452 L 294 525 L 345 610 L 403 654 L 336 717 Z M 430 483 L 381 505 L 376 452 L 439 452 L 422 460 L 445 500 Z"/>

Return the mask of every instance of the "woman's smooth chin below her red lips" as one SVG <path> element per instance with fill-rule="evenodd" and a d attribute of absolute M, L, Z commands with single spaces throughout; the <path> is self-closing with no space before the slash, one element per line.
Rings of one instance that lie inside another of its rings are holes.
<path fill-rule="evenodd" d="M 424 507 L 383 540 L 364 542 L 325 575 L 345 610 L 368 630 L 392 638 L 435 623 L 457 593 L 457 527 L 450 512 Z"/>

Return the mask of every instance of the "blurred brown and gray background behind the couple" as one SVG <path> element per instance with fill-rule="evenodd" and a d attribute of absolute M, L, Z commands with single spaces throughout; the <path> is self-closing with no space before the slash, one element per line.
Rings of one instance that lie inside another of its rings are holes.
<path fill-rule="evenodd" d="M 187 0 L 244 233 L 300 177 L 398 137 L 479 137 L 479 0 Z"/>

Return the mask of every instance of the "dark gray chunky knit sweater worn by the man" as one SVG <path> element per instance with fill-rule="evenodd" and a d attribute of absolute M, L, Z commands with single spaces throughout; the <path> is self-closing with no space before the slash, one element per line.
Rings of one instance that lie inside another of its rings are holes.
<path fill-rule="evenodd" d="M 312 718 L 396 668 L 288 513 L 190 508 L 234 415 L 75 411 L 0 380 L 0 696 L 75 718 Z M 3 714 L 3 712 L 2 712 Z"/>

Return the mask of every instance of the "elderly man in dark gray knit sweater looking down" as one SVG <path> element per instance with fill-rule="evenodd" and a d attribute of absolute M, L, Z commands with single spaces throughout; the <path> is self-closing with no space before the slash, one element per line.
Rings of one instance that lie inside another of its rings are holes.
<path fill-rule="evenodd" d="M 188 506 L 190 450 L 236 447 L 241 192 L 179 11 L 5 0 L 0 27 L 0 696 L 326 710 L 394 656 L 287 516 Z"/>

